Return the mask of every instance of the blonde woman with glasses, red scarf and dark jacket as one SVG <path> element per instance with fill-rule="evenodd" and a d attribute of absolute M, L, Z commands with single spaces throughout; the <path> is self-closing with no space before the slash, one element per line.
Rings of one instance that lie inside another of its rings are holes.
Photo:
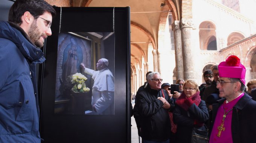
<path fill-rule="evenodd" d="M 183 92 L 175 102 L 173 112 L 174 123 L 177 124 L 177 142 L 191 143 L 192 129 L 206 130 L 204 122 L 209 119 L 206 104 L 201 100 L 198 85 L 187 80 Z"/>

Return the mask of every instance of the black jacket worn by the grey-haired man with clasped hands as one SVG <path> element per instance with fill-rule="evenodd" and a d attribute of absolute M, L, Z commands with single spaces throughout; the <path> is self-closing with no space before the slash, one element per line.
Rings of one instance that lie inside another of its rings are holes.
<path fill-rule="evenodd" d="M 165 99 L 172 104 L 168 93 L 163 90 Z M 171 123 L 168 110 L 157 97 L 163 97 L 162 90 L 151 89 L 148 85 L 136 96 L 135 108 L 140 118 L 140 136 L 144 140 L 166 141 L 170 137 Z"/>

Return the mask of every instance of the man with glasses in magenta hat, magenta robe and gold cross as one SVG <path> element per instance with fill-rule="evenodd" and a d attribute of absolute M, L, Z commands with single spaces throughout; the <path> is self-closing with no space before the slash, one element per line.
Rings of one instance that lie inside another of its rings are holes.
<path fill-rule="evenodd" d="M 256 140 L 256 101 L 244 93 L 245 67 L 231 55 L 218 66 L 218 104 L 213 104 L 210 143 L 253 143 Z"/>

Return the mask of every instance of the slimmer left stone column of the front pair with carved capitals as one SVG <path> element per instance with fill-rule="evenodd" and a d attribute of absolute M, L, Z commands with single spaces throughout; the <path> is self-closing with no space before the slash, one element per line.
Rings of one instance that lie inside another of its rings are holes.
<path fill-rule="evenodd" d="M 184 79 L 180 21 L 172 23 L 172 30 L 174 31 L 176 80 Z"/>

